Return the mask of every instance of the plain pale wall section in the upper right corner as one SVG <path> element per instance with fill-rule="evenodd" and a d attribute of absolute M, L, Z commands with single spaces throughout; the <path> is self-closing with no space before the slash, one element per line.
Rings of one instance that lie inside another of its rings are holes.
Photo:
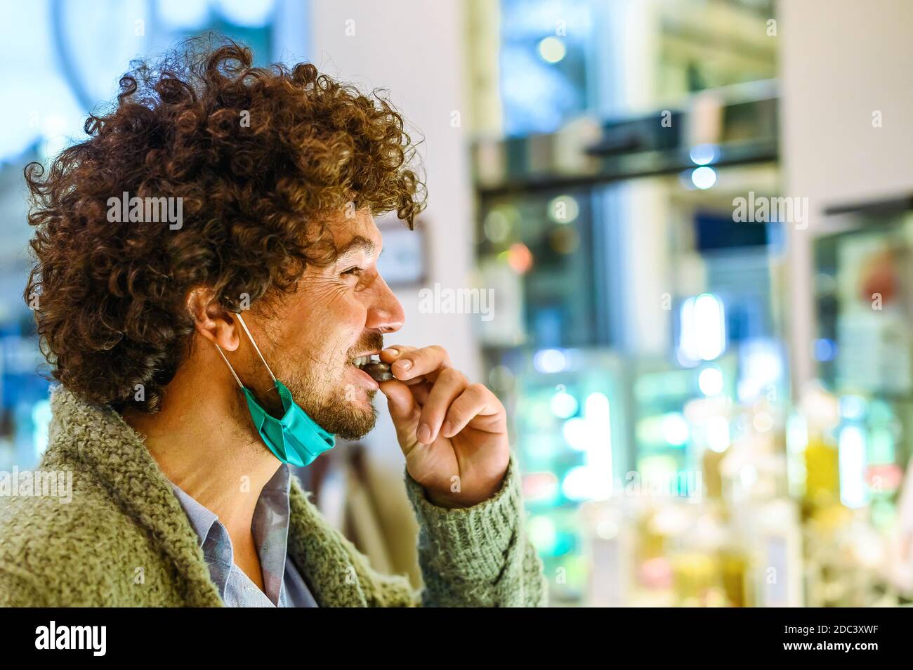
<path fill-rule="evenodd" d="M 913 192 L 913 2 L 780 0 L 783 193 L 808 197 L 792 228 L 792 370 L 813 377 L 811 240 L 822 208 Z M 883 126 L 873 128 L 880 110 Z"/>

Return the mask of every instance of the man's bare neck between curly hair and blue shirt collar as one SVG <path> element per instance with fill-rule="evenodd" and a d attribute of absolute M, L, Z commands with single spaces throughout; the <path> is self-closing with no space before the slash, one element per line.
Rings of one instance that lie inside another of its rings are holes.
<path fill-rule="evenodd" d="M 212 351 L 184 361 L 156 414 L 126 410 L 165 476 L 247 538 L 260 492 L 281 465 L 254 431 L 226 364 Z"/>

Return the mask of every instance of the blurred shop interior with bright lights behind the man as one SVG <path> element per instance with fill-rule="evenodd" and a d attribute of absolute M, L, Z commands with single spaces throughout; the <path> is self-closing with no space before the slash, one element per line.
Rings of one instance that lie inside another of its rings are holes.
<path fill-rule="evenodd" d="M 910 3 L 3 5 L 0 469 L 37 465 L 50 418 L 23 168 L 131 58 L 216 30 L 389 89 L 425 138 L 419 229 L 378 221 L 389 341 L 445 346 L 508 407 L 552 605 L 913 598 Z M 299 475 L 417 583 L 380 409 Z"/>

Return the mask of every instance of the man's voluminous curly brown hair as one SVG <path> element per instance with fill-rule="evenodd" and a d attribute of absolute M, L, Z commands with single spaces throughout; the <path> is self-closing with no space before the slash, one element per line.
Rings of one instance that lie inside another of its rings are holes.
<path fill-rule="evenodd" d="M 54 378 L 118 410 L 161 407 L 194 330 L 191 288 L 232 311 L 245 295 L 289 293 L 335 256 L 325 214 L 395 210 L 412 228 L 425 206 L 415 143 L 383 92 L 310 63 L 255 68 L 236 42 L 192 40 L 131 63 L 111 107 L 47 175 L 26 166 L 36 263 L 25 296 L 38 296 Z M 183 225 L 110 223 L 106 203 L 124 192 L 181 198 Z"/>

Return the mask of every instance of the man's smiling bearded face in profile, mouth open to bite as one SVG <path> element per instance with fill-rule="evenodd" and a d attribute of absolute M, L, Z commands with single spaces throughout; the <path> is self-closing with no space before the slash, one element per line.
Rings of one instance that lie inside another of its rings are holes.
<path fill-rule="evenodd" d="M 308 267 L 298 290 L 258 319 L 257 330 L 266 332 L 255 331 L 254 337 L 266 336 L 263 343 L 257 340 L 260 351 L 314 421 L 332 434 L 357 439 L 374 426 L 378 386 L 353 360 L 380 353 L 383 333 L 402 328 L 404 314 L 377 272 L 383 239 L 371 214 L 339 215 L 329 225 L 336 260 Z M 275 392 L 257 397 L 271 409 L 277 404 Z"/>

